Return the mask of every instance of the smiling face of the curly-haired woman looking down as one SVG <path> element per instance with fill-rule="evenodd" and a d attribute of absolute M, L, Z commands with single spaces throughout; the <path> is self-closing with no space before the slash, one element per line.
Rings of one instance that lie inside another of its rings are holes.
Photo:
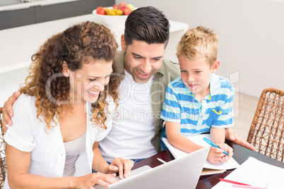
<path fill-rule="evenodd" d="M 81 69 L 70 71 L 70 101 L 73 104 L 94 103 L 105 89 L 112 74 L 112 61 L 89 61 Z"/>

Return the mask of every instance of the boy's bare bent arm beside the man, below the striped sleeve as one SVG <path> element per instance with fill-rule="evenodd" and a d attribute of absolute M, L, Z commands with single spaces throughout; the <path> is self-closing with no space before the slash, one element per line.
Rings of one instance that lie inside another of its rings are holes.
<path fill-rule="evenodd" d="M 201 145 L 196 145 L 196 143 L 192 142 L 180 133 L 180 123 L 166 121 L 165 124 L 167 140 L 169 140 L 172 146 L 187 153 L 203 148 Z"/>

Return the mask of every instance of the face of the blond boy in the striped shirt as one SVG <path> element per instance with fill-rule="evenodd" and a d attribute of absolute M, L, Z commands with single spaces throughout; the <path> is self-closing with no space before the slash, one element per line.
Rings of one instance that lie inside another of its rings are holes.
<path fill-rule="evenodd" d="M 215 73 L 219 65 L 220 61 L 215 61 L 213 66 L 210 66 L 206 59 L 191 61 L 184 58 L 184 56 L 179 56 L 182 81 L 198 99 L 202 99 L 210 93 L 211 73 Z"/>

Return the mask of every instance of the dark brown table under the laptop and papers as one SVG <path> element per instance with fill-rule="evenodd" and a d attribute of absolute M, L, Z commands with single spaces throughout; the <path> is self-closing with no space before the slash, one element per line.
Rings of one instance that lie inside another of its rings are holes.
<path fill-rule="evenodd" d="M 263 154 L 259 154 L 258 152 L 254 152 L 252 150 L 249 150 L 245 147 L 242 147 L 240 145 L 235 144 L 234 142 L 226 140 L 226 143 L 230 145 L 234 149 L 234 154 L 232 157 L 239 163 L 242 164 L 244 161 L 246 161 L 249 157 L 254 157 L 256 159 L 259 159 L 260 161 L 264 161 L 268 164 L 278 166 L 284 169 L 284 163 L 281 161 L 278 161 L 276 159 L 272 159 L 270 157 L 266 157 Z M 164 150 L 162 152 L 159 152 L 158 154 L 155 154 L 153 157 L 149 157 L 148 159 L 145 159 L 143 161 L 138 162 L 134 165 L 133 169 L 137 169 L 138 167 L 148 165 L 150 167 L 160 166 L 162 163 L 157 160 L 157 157 L 160 159 L 163 159 L 165 161 L 172 161 L 174 157 L 170 153 L 169 150 Z M 206 189 L 206 188 L 212 188 L 214 185 L 216 185 L 219 182 L 219 178 L 225 178 L 228 174 L 230 174 L 234 169 L 225 171 L 224 173 L 218 173 L 208 176 L 200 176 L 199 182 L 196 185 L 197 189 Z"/>

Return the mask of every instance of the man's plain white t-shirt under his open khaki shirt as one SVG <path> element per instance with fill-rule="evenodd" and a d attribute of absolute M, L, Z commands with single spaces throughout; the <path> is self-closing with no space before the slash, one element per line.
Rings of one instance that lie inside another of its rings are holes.
<path fill-rule="evenodd" d="M 125 78 L 119 85 L 119 116 L 113 116 L 112 130 L 100 142 L 100 152 L 106 161 L 114 157 L 125 159 L 148 158 L 157 151 L 151 144 L 155 134 L 150 88 L 148 83 L 138 84 L 124 71 Z"/>

